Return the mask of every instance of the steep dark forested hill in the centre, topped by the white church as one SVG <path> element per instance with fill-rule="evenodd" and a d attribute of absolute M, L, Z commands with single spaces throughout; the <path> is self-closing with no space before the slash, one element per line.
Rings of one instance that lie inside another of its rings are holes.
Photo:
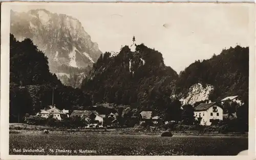
<path fill-rule="evenodd" d="M 165 109 L 170 104 L 178 74 L 164 65 L 157 50 L 124 46 L 115 57 L 106 52 L 94 64 L 81 89 L 92 94 L 94 103 L 131 104 L 139 109 Z"/>

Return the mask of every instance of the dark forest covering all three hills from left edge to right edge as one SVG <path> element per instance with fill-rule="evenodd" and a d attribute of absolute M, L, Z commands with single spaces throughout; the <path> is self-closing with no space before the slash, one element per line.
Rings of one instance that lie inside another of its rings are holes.
<path fill-rule="evenodd" d="M 52 102 L 58 109 L 71 111 L 113 103 L 118 115 L 126 119 L 152 110 L 165 120 L 180 120 L 179 96 L 170 95 L 184 96 L 196 83 L 215 87 L 211 100 L 239 95 L 248 101 L 248 47 L 230 47 L 209 60 L 196 61 L 180 74 L 165 66 L 159 51 L 144 44 L 137 45 L 135 52 L 124 46 L 117 56 L 110 55 L 100 55 L 81 88 L 74 89 L 50 73 L 47 57 L 30 39 L 19 42 L 10 35 L 10 122 L 36 114 Z"/>

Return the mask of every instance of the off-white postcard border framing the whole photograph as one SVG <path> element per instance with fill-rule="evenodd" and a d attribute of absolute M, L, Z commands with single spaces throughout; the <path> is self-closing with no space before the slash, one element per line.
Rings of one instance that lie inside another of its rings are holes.
<path fill-rule="evenodd" d="M 20 3 L 20 2 L 19 2 Z M 255 158 L 255 5 L 250 7 L 250 45 L 249 45 L 249 134 L 248 156 L 63 156 L 63 155 L 9 155 L 9 34 L 10 34 L 10 5 L 3 3 L 1 15 L 1 152 L 2 159 L 254 159 Z M 31 5 L 30 3 L 20 3 L 21 5 Z M 35 4 L 32 3 L 33 5 Z M 41 3 L 40 3 L 41 4 Z M 44 3 L 50 5 L 49 3 Z M 106 4 L 106 3 L 105 3 Z M 110 3 L 108 3 L 110 4 Z M 125 3 L 120 3 L 125 5 Z M 209 3 L 209 5 L 212 3 Z M 236 3 L 237 4 L 237 3 Z M 38 3 L 37 3 L 38 5 Z M 51 5 L 72 5 L 72 3 L 51 3 Z M 113 4 L 115 5 L 115 4 Z M 141 3 L 140 5 L 145 5 Z M 234 5 L 234 4 L 226 4 Z M 248 4 L 244 4 L 248 5 Z"/>

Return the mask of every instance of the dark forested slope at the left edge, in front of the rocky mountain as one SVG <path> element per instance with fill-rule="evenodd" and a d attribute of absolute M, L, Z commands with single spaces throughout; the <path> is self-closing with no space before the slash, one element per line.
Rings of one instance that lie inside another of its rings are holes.
<path fill-rule="evenodd" d="M 80 89 L 63 86 L 50 73 L 47 57 L 30 39 L 19 42 L 10 35 L 10 122 L 52 104 L 53 94 L 59 109 L 91 105 L 91 96 Z"/>

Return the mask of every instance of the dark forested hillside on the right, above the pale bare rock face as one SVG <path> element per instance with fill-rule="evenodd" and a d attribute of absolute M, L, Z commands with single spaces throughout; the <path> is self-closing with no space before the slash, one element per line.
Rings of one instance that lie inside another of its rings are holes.
<path fill-rule="evenodd" d="M 197 83 L 214 87 L 209 95 L 211 100 L 239 95 L 242 100 L 248 101 L 249 47 L 223 49 L 218 56 L 189 65 L 179 75 L 176 93 L 186 94 L 189 87 Z"/>

